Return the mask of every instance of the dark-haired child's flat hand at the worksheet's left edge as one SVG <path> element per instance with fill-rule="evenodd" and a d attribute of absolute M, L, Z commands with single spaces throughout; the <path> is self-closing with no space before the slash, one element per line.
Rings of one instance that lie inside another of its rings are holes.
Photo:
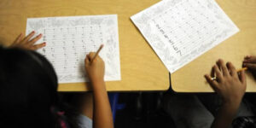
<path fill-rule="evenodd" d="M 42 34 L 39 34 L 36 38 L 32 38 L 35 32 L 31 32 L 29 35 L 24 38 L 24 35 L 21 33 L 10 47 L 18 47 L 21 49 L 40 49 L 45 46 L 45 42 L 42 44 L 35 44 L 40 38 L 42 38 Z M 31 39 L 32 38 L 32 39 Z"/>

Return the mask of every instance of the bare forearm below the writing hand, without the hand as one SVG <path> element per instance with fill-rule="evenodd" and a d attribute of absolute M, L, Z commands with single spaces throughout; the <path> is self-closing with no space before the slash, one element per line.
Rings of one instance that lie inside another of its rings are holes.
<path fill-rule="evenodd" d="M 108 93 L 103 80 L 92 82 L 94 109 L 93 127 L 94 128 L 113 128 L 113 116 L 108 101 Z"/>

